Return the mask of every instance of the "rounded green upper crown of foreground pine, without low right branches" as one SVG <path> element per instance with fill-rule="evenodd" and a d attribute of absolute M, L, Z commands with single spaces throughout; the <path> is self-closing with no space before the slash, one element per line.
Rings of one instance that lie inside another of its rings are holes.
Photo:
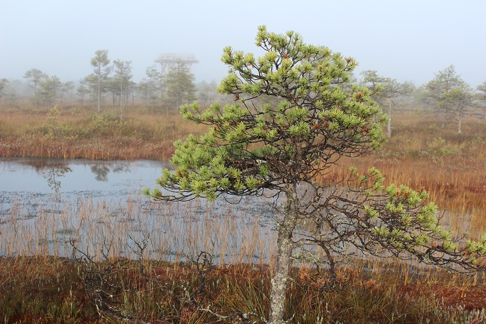
<path fill-rule="evenodd" d="M 231 72 L 218 92 L 235 104 L 181 106 L 186 120 L 208 124 L 208 133 L 175 143 L 159 184 L 176 194 L 214 200 L 311 181 L 340 156 L 357 156 L 384 141 L 383 115 L 369 90 L 347 83 L 356 62 L 326 47 L 305 44 L 297 33 L 268 33 L 260 26 L 255 58 L 231 47 L 221 60 Z M 267 99 L 271 103 L 260 104 Z M 374 122 L 373 120 L 378 120 Z M 151 196 L 161 198 L 158 190 Z"/>

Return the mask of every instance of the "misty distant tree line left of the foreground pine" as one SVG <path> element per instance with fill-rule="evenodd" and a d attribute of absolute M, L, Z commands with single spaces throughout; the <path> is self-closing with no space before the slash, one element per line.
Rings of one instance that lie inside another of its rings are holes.
<path fill-rule="evenodd" d="M 195 99 L 209 104 L 216 96 L 216 82 L 203 81 L 196 85 L 194 74 L 182 62 L 165 75 L 156 65 L 151 65 L 146 68 L 139 83 L 132 80 L 131 61 L 110 60 L 106 49 L 96 51 L 90 65 L 92 73 L 77 84 L 74 81 L 62 82 L 58 76 L 49 76 L 35 68 L 25 72 L 24 79 L 31 88 L 29 97 L 33 106 L 45 106 L 47 109 L 57 104 L 62 108 L 68 98 L 72 102 L 77 97 L 78 104 L 82 106 L 92 105 L 98 111 L 107 105 L 118 107 L 122 115 L 127 106 L 135 105 L 136 99 L 137 104 L 159 106 L 169 113 L 171 110 L 178 111 L 181 104 Z M 18 81 L 12 84 L 8 79 L 0 79 L 0 105 L 17 106 L 18 88 Z"/>

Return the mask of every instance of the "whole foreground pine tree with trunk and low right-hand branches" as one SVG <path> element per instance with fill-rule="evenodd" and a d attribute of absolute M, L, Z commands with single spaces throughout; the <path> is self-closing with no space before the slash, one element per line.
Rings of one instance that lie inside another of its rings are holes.
<path fill-rule="evenodd" d="M 208 133 L 178 140 L 174 172 L 164 170 L 157 181 L 164 191 L 144 193 L 160 200 L 264 193 L 280 198 L 268 323 L 284 321 L 293 260 L 319 265 L 322 289 L 332 288 L 337 265 L 353 255 L 350 246 L 381 257 L 414 255 L 451 270 L 484 269 L 478 259 L 486 252 L 486 236 L 460 247 L 438 225 L 437 206 L 426 203 L 425 191 L 384 188 L 374 168 L 366 175 L 352 168 L 347 186 L 316 181 L 342 156 L 359 156 L 385 141 L 387 117 L 371 98 L 380 87 L 346 85 L 357 64 L 353 58 L 265 26 L 258 28 L 256 44 L 265 55 L 224 49 L 221 60 L 230 72 L 217 91 L 232 95 L 234 104 L 181 106 L 183 118 L 208 124 Z M 277 100 L 262 103 L 262 96 Z"/>

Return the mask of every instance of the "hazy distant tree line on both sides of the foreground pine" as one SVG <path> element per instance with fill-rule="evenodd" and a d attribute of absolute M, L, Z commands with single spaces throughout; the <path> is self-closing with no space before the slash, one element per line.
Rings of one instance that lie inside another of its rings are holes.
<path fill-rule="evenodd" d="M 58 76 L 49 76 L 41 70 L 32 68 L 26 71 L 24 78 L 33 92 L 31 92 L 31 99 L 34 107 L 48 108 L 58 104 L 62 108 L 67 99 L 72 100 L 74 97 L 74 88 L 76 88 L 78 103 L 82 106 L 90 104 L 101 111 L 101 107 L 106 106 L 110 99 L 110 106 L 119 107 L 121 115 L 124 108 L 135 105 L 135 98 L 139 104 L 159 106 L 169 113 L 169 111 L 178 111 L 179 106 L 189 104 L 196 99 L 201 104 L 209 105 L 217 96 L 215 81 L 211 83 L 203 81 L 196 85 L 194 74 L 182 62 L 174 65 L 165 75 L 156 65 L 151 65 L 146 68 L 145 76 L 139 83 L 132 80 L 131 61 L 111 61 L 106 49 L 95 51 L 90 64 L 92 73 L 81 79 L 77 83 L 77 88 L 73 81 L 63 82 Z M 360 76 L 360 84 L 363 86 L 380 89 L 374 95 L 374 99 L 389 116 L 387 137 L 392 136 L 394 109 L 411 102 L 436 111 L 442 127 L 445 127 L 447 122 L 456 122 L 458 133 L 461 133 L 461 123 L 465 113 L 475 111 L 479 115 L 485 114 L 486 81 L 473 89 L 455 72 L 454 65 L 437 72 L 434 79 L 419 87 L 414 86 L 410 81 L 399 83 L 396 79 L 381 76 L 375 70 L 364 71 Z M 265 100 L 265 97 L 260 100 Z M 17 105 L 15 85 L 8 79 L 0 79 L 0 105 Z"/>

